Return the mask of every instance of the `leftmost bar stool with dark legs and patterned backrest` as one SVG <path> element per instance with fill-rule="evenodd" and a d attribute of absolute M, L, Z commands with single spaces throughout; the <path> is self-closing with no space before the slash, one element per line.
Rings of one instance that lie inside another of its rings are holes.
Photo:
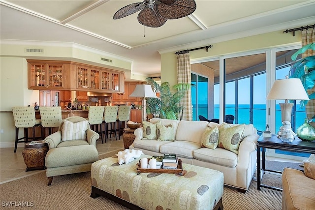
<path fill-rule="evenodd" d="M 37 139 L 41 139 L 42 137 L 35 137 L 35 127 L 41 125 L 40 119 L 35 119 L 35 110 L 34 107 L 12 107 L 13 117 L 14 117 L 14 125 L 15 125 L 15 146 L 14 152 L 16 152 L 16 148 L 18 143 L 27 143 L 29 139 L 35 141 Z M 32 128 L 32 138 L 29 137 L 28 128 Z M 24 137 L 19 138 L 19 128 L 24 128 Z M 24 141 L 20 141 L 23 140 Z"/>

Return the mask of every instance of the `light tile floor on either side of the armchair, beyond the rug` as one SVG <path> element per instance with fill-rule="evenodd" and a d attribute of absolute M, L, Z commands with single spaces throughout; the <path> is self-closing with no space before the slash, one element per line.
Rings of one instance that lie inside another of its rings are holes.
<path fill-rule="evenodd" d="M 0 184 L 43 172 L 43 170 L 25 171 L 26 165 L 22 155 L 24 147 L 21 147 L 21 145 L 19 144 L 15 153 L 14 148 L 0 148 Z M 120 140 L 117 139 L 117 141 L 114 137 L 107 139 L 107 143 L 104 140 L 104 144 L 99 139 L 96 142 L 96 149 L 98 154 L 119 149 L 123 150 L 123 137 L 121 136 Z"/>

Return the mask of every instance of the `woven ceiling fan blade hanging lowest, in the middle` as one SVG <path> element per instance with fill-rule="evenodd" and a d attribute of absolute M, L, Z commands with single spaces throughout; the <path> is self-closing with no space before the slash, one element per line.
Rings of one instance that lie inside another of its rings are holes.
<path fill-rule="evenodd" d="M 144 8 L 138 14 L 138 21 L 144 26 L 158 28 L 160 26 L 163 26 L 167 19 L 158 14 L 157 5 L 155 4 L 153 9 L 150 9 L 148 7 Z"/>

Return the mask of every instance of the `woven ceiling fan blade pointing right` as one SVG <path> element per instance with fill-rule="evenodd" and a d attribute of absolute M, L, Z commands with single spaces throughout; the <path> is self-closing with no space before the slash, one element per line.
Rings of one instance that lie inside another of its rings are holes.
<path fill-rule="evenodd" d="M 171 2 L 172 0 L 166 0 Z M 157 5 L 158 13 L 167 19 L 183 18 L 196 10 L 196 2 L 194 0 L 176 0 L 173 4 L 162 3 Z"/>

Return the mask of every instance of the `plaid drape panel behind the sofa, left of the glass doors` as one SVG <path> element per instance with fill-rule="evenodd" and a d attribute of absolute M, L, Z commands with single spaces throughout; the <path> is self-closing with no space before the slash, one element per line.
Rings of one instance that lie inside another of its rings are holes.
<path fill-rule="evenodd" d="M 189 52 L 177 55 L 177 82 L 191 84 L 190 75 L 190 57 Z M 180 115 L 181 120 L 192 120 L 191 90 L 186 91 L 185 96 L 180 103 L 183 106 L 183 112 Z"/>

